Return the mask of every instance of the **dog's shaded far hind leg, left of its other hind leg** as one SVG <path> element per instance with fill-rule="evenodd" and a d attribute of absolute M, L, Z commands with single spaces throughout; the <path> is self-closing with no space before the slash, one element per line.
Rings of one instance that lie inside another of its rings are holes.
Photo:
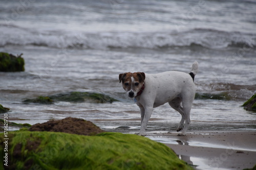
<path fill-rule="evenodd" d="M 184 114 L 183 108 L 180 106 L 181 102 L 182 102 L 182 100 L 180 97 L 177 97 L 169 102 L 170 107 L 172 107 L 174 110 L 177 110 L 181 114 L 181 120 L 180 120 L 180 124 L 177 128 L 177 132 L 179 132 L 183 129 L 183 124 L 185 121 L 185 114 Z"/>

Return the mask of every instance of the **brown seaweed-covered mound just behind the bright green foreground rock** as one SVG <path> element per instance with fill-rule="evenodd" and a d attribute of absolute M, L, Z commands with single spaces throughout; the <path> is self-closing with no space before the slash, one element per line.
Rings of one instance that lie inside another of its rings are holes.
<path fill-rule="evenodd" d="M 49 120 L 46 123 L 35 124 L 29 131 L 65 132 L 78 135 L 96 135 L 104 132 L 90 121 L 73 117 L 67 117 L 61 120 Z"/>

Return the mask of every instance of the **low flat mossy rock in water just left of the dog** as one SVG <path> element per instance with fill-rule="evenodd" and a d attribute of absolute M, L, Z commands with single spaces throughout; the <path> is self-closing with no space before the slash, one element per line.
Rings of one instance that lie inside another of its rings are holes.
<path fill-rule="evenodd" d="M 54 101 L 63 102 L 113 103 L 118 101 L 105 94 L 80 91 L 51 95 L 50 98 Z"/>

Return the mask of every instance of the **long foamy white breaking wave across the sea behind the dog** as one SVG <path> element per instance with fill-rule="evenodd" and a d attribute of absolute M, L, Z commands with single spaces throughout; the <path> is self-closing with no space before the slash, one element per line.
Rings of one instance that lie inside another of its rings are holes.
<path fill-rule="evenodd" d="M 256 35 L 194 29 L 185 32 L 64 32 L 0 25 L 0 46 L 35 45 L 53 48 L 255 48 Z"/>

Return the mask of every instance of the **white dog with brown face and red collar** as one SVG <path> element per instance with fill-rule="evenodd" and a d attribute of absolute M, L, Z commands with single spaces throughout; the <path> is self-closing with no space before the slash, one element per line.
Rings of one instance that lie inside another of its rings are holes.
<path fill-rule="evenodd" d="M 134 98 L 140 108 L 141 128 L 138 135 L 145 136 L 146 126 L 153 109 L 167 102 L 181 114 L 177 132 L 182 130 L 182 133 L 178 135 L 186 135 L 190 124 L 189 114 L 196 94 L 194 78 L 198 72 L 198 66 L 198 62 L 195 61 L 189 74 L 180 71 L 166 71 L 159 74 L 144 72 L 119 74 L 119 83 L 122 82 L 127 96 Z M 183 126 L 184 122 L 185 126 Z"/>

